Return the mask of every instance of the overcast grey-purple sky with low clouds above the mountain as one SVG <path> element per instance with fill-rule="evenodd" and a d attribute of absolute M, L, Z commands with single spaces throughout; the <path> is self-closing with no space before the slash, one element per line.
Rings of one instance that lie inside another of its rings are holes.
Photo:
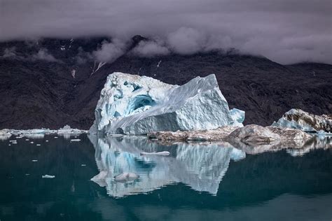
<path fill-rule="evenodd" d="M 139 55 L 237 48 L 332 64 L 332 0 L 0 0 L 0 41 L 136 34 L 155 39 Z"/>

